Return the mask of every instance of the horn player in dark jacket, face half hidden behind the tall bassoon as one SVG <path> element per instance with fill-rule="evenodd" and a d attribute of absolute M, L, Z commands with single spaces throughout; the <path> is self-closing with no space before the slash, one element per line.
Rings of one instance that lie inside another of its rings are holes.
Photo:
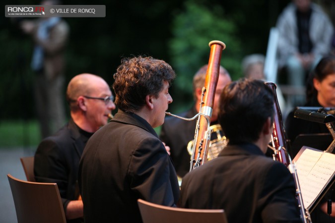
<path fill-rule="evenodd" d="M 202 94 L 201 89 L 205 85 L 207 66 L 208 65 L 203 65 L 193 78 L 193 95 L 195 99 L 194 106 L 190 110 L 178 114 L 179 116 L 192 118 L 199 112 Z M 220 66 L 213 113 L 210 120 L 211 125 L 217 124 L 217 102 L 222 89 L 230 82 L 231 78 L 228 71 Z M 187 146 L 190 141 L 194 140 L 197 120 L 198 118 L 192 121 L 185 121 L 177 117 L 168 116 L 165 118 L 164 124 L 162 125 L 159 138 L 170 147 L 170 156 L 179 177 L 183 177 L 190 171 L 191 155 L 188 152 Z"/>

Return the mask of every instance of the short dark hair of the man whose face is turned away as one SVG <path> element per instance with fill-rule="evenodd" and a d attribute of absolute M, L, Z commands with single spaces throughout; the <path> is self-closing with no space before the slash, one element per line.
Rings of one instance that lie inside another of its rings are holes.
<path fill-rule="evenodd" d="M 218 121 L 229 144 L 252 143 L 274 115 L 274 94 L 262 80 L 240 79 L 227 85 L 220 96 Z"/>

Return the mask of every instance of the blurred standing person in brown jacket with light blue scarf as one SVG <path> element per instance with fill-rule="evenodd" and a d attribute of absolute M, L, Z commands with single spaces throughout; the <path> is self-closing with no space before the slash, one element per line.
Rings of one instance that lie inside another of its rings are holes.
<path fill-rule="evenodd" d="M 41 5 L 61 4 L 44 0 Z M 31 68 L 35 72 L 34 97 L 41 136 L 45 138 L 66 122 L 64 102 L 65 51 L 69 27 L 59 17 L 22 20 L 20 27 L 34 42 Z"/>

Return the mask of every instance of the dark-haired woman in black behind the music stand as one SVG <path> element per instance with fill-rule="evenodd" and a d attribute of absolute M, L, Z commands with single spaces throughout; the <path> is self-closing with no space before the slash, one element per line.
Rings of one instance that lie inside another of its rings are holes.
<path fill-rule="evenodd" d="M 307 103 L 306 107 L 334 108 L 335 107 L 335 56 L 323 57 L 315 69 L 311 72 L 306 89 Z M 323 123 L 308 121 L 294 117 L 294 111 L 291 111 L 285 122 L 286 133 L 291 142 L 299 134 L 308 133 L 329 133 L 326 125 Z M 317 148 L 318 149 L 318 148 Z M 292 158 L 299 151 L 291 151 Z M 332 189 L 333 190 L 333 189 Z M 312 212 L 313 222 L 325 222 L 331 218 L 335 220 L 335 194 L 328 194 L 324 197 L 325 201 L 332 198 L 333 212 L 331 216 L 327 213 L 327 202 L 321 202 L 321 205 Z"/>

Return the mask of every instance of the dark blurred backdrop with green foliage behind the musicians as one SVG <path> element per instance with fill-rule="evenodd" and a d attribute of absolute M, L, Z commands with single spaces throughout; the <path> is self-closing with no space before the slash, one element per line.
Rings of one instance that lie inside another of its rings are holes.
<path fill-rule="evenodd" d="M 170 88 L 171 112 L 193 104 L 192 77 L 208 62 L 208 43 L 226 44 L 221 65 L 233 80 L 242 76 L 244 56 L 266 54 L 268 33 L 290 0 L 67 0 L 63 4 L 104 4 L 105 18 L 64 18 L 70 27 L 66 84 L 82 72 L 102 76 L 110 85 L 122 57 L 146 55 L 171 64 L 177 78 Z M 11 0 L 5 4 L 39 4 Z M 0 125 L 3 120 L 35 119 L 32 41 L 19 19 L 0 20 Z M 64 92 L 65 99 L 65 92 Z M 65 100 L 64 100 L 64 103 Z M 67 112 L 68 114 L 68 112 Z M 1 136 L 0 136 L 1 137 Z"/>

